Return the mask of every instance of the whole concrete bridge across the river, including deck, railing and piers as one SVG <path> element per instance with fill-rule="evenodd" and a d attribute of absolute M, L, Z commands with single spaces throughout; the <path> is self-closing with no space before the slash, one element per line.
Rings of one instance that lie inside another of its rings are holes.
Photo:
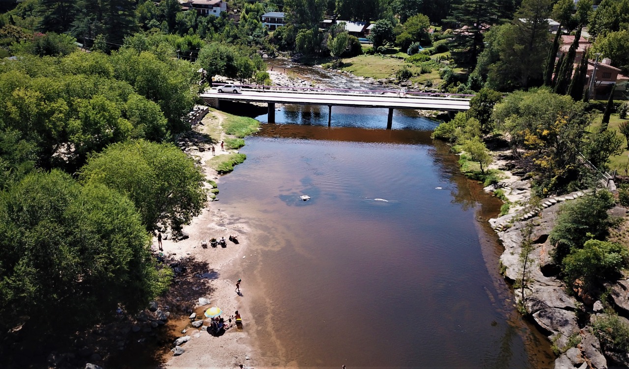
<path fill-rule="evenodd" d="M 245 86 L 248 87 L 248 86 Z M 270 89 L 272 88 L 272 89 Z M 472 95 L 426 94 L 422 92 L 344 90 L 337 88 L 292 87 L 243 88 L 242 94 L 219 93 L 211 89 L 199 96 L 214 107 L 221 101 L 262 102 L 268 105 L 268 122 L 275 123 L 275 104 L 327 105 L 328 126 L 333 106 L 388 108 L 387 129 L 393 109 L 442 110 L 448 113 L 469 109 Z"/>

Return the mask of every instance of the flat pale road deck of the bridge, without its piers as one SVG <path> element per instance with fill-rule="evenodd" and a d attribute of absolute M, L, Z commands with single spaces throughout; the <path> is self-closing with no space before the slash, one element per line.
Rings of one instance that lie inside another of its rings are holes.
<path fill-rule="evenodd" d="M 352 107 L 381 107 L 391 109 L 423 109 L 462 111 L 469 109 L 469 99 L 452 97 L 399 97 L 394 94 L 336 94 L 320 92 L 282 92 L 272 90 L 247 90 L 242 94 L 220 94 L 207 90 L 199 95 L 203 99 L 238 102 L 266 102 L 299 105 L 332 105 Z"/>

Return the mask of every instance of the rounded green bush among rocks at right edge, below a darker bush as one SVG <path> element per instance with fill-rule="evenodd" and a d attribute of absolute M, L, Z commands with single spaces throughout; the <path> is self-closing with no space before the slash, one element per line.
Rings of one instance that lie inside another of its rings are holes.
<path fill-rule="evenodd" d="M 581 279 L 584 286 L 592 287 L 598 282 L 617 279 L 628 262 L 629 250 L 625 246 L 587 240 L 582 249 L 574 250 L 564 258 L 563 272 L 568 283 Z"/>

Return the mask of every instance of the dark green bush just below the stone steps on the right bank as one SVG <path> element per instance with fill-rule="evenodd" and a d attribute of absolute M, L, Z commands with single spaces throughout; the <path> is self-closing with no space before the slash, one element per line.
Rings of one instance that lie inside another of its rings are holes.
<path fill-rule="evenodd" d="M 548 240 L 555 245 L 554 259 L 562 264 L 564 257 L 574 250 L 582 249 L 589 239 L 604 240 L 615 221 L 607 211 L 615 205 L 609 191 L 596 191 L 560 208 L 559 217 Z"/>

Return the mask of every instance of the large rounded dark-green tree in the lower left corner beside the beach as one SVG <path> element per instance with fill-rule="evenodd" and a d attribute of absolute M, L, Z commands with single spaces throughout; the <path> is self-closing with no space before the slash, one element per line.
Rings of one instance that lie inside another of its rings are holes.
<path fill-rule="evenodd" d="M 42 311 L 55 319 L 33 322 L 40 328 L 65 332 L 70 319 L 77 329 L 118 306 L 135 312 L 167 287 L 133 204 L 103 185 L 29 174 L 0 193 L 0 232 L 5 330 Z"/>

